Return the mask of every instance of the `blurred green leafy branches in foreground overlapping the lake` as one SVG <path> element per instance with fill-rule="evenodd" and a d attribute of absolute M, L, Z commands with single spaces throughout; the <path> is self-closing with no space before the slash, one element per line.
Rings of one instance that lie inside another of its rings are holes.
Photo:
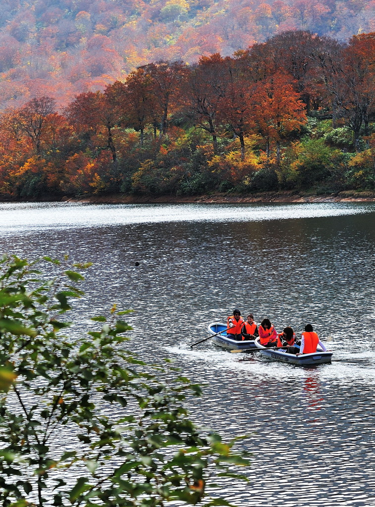
<path fill-rule="evenodd" d="M 127 312 L 114 306 L 92 318 L 87 335 L 66 335 L 62 315 L 83 294 L 77 284 L 89 264 L 4 256 L 0 267 L 2 505 L 195 505 L 212 468 L 232 477 L 229 466 L 248 464 L 231 452 L 234 442 L 188 418 L 183 401 L 198 386 L 181 376 L 160 382 L 124 349 Z"/>

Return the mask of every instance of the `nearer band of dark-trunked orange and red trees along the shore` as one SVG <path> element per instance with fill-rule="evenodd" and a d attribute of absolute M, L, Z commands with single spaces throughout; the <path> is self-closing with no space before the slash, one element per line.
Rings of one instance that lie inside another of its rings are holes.
<path fill-rule="evenodd" d="M 235 56 L 140 66 L 58 111 L 3 112 L 9 197 L 375 188 L 375 33 L 287 31 Z"/>

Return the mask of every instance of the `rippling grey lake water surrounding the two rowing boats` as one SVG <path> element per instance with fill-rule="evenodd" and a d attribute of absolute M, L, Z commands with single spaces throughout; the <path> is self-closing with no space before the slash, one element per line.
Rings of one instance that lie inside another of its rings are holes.
<path fill-rule="evenodd" d="M 228 439 L 250 435 L 250 482 L 227 483 L 223 497 L 375 506 L 374 204 L 2 204 L 0 218 L 2 252 L 94 263 L 76 332 L 112 303 L 134 309 L 127 347 L 172 357 L 204 385 L 192 418 Z M 190 349 L 235 307 L 278 331 L 312 323 L 332 364 L 293 367 L 210 341 Z"/>

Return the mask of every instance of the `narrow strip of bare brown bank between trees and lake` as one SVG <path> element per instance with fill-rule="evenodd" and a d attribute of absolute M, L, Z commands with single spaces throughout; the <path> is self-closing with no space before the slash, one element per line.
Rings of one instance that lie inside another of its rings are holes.
<path fill-rule="evenodd" d="M 297 192 L 261 192 L 257 194 L 202 194 L 198 196 L 87 194 L 82 196 L 45 195 L 35 199 L 14 199 L 0 195 L 0 203 L 16 202 L 72 202 L 87 204 L 246 204 L 246 203 L 320 203 L 375 202 L 375 191 L 343 191 L 329 195 Z"/>

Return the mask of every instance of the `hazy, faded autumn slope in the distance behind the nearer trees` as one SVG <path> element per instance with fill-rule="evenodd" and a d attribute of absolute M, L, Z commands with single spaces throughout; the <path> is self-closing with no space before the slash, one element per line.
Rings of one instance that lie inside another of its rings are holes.
<path fill-rule="evenodd" d="M 0 108 L 58 107 L 159 60 L 231 56 L 287 30 L 375 30 L 372 0 L 1 0 Z"/>

